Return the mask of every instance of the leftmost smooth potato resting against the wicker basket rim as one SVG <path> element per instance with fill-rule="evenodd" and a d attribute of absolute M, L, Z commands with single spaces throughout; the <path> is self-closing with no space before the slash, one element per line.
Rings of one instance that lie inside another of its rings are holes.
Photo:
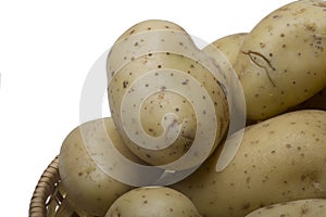
<path fill-rule="evenodd" d="M 124 145 L 112 118 L 91 120 L 75 128 L 63 141 L 59 155 L 61 181 L 72 205 L 96 216 L 103 216 L 110 204 L 133 189 L 110 177 L 93 161 L 92 157 L 99 153 L 103 154 L 103 150 L 90 155 L 86 149 L 86 142 L 93 146 L 106 145 L 111 142 L 108 136 L 120 153 L 133 162 L 141 163 Z M 122 166 L 116 165 L 115 169 Z"/>

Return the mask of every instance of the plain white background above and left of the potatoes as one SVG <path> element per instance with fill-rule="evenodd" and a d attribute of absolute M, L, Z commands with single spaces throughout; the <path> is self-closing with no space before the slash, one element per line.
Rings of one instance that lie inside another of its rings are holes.
<path fill-rule="evenodd" d="M 212 42 L 290 0 L 0 2 L 1 216 L 27 216 L 35 186 L 79 122 L 92 64 L 131 25 L 162 18 Z M 108 115 L 103 102 L 103 115 Z"/>

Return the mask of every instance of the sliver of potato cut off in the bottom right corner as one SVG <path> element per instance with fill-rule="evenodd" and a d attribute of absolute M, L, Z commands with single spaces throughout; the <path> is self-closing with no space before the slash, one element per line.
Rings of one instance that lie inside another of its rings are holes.
<path fill-rule="evenodd" d="M 269 205 L 246 217 L 325 217 L 326 200 L 309 199 Z"/>

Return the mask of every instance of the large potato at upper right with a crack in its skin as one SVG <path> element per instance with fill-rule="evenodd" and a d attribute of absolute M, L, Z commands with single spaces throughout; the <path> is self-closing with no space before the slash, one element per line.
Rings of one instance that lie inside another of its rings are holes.
<path fill-rule="evenodd" d="M 247 35 L 234 67 L 249 119 L 280 114 L 325 88 L 325 8 L 322 0 L 294 1 Z"/>

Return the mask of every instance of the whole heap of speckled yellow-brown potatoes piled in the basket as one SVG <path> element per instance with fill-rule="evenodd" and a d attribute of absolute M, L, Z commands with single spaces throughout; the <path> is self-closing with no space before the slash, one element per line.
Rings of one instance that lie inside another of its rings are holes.
<path fill-rule="evenodd" d="M 325 216 L 325 61 L 322 0 L 202 50 L 175 23 L 136 24 L 108 55 L 112 117 L 63 141 L 65 200 L 91 217 Z"/>

